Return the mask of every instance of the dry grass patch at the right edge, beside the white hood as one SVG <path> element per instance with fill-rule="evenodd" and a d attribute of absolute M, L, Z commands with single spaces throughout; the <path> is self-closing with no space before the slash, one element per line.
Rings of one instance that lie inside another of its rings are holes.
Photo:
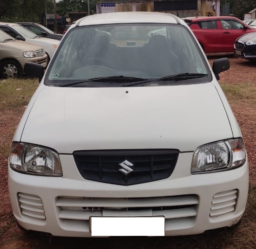
<path fill-rule="evenodd" d="M 230 103 L 237 104 L 238 101 L 242 101 L 256 105 L 256 85 L 252 83 L 220 83 L 220 85 Z"/>

